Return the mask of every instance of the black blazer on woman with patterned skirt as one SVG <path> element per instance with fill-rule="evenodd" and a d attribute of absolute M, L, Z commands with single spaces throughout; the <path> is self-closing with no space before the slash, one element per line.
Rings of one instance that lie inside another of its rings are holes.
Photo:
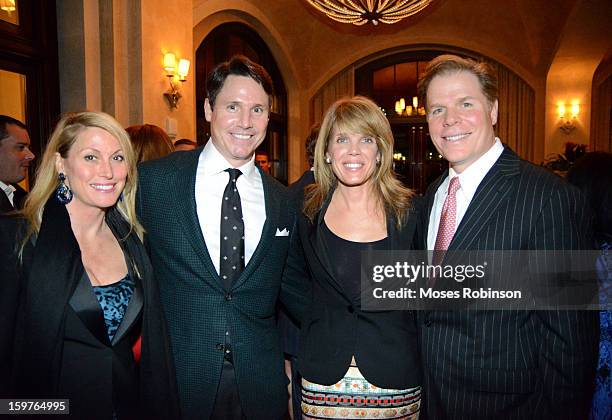
<path fill-rule="evenodd" d="M 306 270 L 292 255 L 287 275 L 310 275 L 311 305 L 302 322 L 298 366 L 312 382 L 331 385 L 346 373 L 353 355 L 359 370 L 372 384 L 383 388 L 405 389 L 421 384 L 418 342 L 413 311 L 365 311 L 359 299 L 351 300 L 335 278 L 328 257 L 322 224 L 331 194 L 311 223 L 299 217 L 299 234 Z M 414 249 L 417 217 L 411 209 L 401 230 L 387 221 L 391 249 Z M 356 256 L 356 263 L 359 258 Z"/>

